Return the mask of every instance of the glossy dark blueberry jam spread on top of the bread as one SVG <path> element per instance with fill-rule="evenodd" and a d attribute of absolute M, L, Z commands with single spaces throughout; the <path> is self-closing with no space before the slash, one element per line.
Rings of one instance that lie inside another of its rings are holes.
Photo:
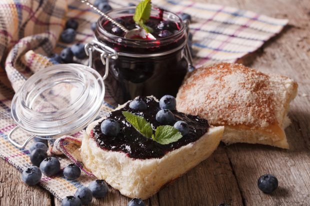
<path fill-rule="evenodd" d="M 160 110 L 159 103 L 151 97 L 139 97 L 147 105 L 146 110 L 133 110 L 129 108 L 129 103 L 120 110 L 110 113 L 109 119 L 117 120 L 120 125 L 120 132 L 112 137 L 106 136 L 101 132 L 100 125 L 97 124 L 92 130 L 92 137 L 96 140 L 101 149 L 124 152 L 128 157 L 134 159 L 150 159 L 161 158 L 167 152 L 178 149 L 184 145 L 198 140 L 207 132 L 209 125 L 207 120 L 198 116 L 187 115 L 176 110 L 171 111 L 174 114 L 174 121 L 168 125 L 173 126 L 175 122 L 182 120 L 189 126 L 188 134 L 180 138 L 176 142 L 167 145 L 161 145 L 151 139 L 142 136 L 137 132 L 124 118 L 122 111 L 129 111 L 133 114 L 143 116 L 147 122 L 151 123 L 154 129 L 161 125 L 155 120 L 156 113 Z"/>

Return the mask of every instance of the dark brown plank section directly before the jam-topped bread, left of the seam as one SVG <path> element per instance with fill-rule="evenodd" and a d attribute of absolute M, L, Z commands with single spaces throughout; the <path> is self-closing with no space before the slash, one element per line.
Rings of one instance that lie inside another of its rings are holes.
<path fill-rule="evenodd" d="M 160 206 L 242 206 L 238 184 L 223 146 L 171 185 L 159 191 Z"/>

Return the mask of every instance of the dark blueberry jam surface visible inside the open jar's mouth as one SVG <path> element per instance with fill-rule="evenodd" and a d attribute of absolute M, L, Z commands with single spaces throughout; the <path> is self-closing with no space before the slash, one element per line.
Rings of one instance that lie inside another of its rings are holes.
<path fill-rule="evenodd" d="M 122 24 L 128 30 L 137 28 L 135 22 L 132 19 L 132 16 L 122 16 L 115 19 L 118 23 Z M 174 33 L 176 33 L 180 29 L 180 25 L 178 22 L 163 20 L 157 16 L 151 16 L 148 21 L 145 23 L 146 26 L 152 28 L 151 34 L 156 38 L 164 38 L 168 37 Z M 103 28 L 111 34 L 124 37 L 125 32 L 120 28 L 115 26 L 110 21 L 103 22 Z M 136 39 L 141 39 L 137 37 Z M 147 39 L 146 39 L 147 40 Z"/>

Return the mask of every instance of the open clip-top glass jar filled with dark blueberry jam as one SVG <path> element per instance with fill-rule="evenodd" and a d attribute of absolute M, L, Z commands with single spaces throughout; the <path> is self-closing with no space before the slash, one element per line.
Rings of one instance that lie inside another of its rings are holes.
<path fill-rule="evenodd" d="M 108 15 L 130 30 L 136 28 L 134 9 L 115 9 Z M 174 13 L 152 8 L 145 24 L 155 39 L 125 38 L 125 33 L 103 16 L 97 21 L 95 40 L 88 49 L 91 67 L 102 75 L 108 72 L 104 80 L 108 103 L 122 104 L 139 95 L 175 96 L 187 72 L 185 23 Z"/>

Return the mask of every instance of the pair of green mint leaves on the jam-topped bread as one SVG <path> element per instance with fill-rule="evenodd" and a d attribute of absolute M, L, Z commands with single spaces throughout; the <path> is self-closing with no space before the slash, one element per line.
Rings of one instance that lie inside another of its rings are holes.
<path fill-rule="evenodd" d="M 146 138 L 158 142 L 159 144 L 166 145 L 172 142 L 176 142 L 182 138 L 182 134 L 172 126 L 162 125 L 158 126 L 153 134 L 152 127 L 143 117 L 132 114 L 130 112 L 122 112 L 122 115 L 141 135 Z"/>

